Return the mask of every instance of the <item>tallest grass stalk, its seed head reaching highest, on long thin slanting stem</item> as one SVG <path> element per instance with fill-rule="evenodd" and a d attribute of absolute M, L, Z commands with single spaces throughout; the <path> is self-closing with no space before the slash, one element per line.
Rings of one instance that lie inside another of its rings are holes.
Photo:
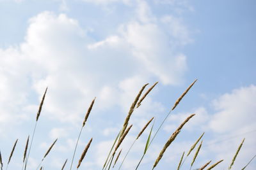
<path fill-rule="evenodd" d="M 191 83 L 191 85 L 189 85 L 189 87 L 182 93 L 182 95 L 179 97 L 179 99 L 177 99 L 177 101 L 175 102 L 175 104 L 174 104 L 173 107 L 172 107 L 172 110 L 170 110 L 170 111 L 167 113 L 167 115 L 166 115 L 166 117 L 164 118 L 163 122 L 162 122 L 161 125 L 158 127 L 158 129 L 157 129 L 156 133 L 154 134 L 152 140 L 150 141 L 148 147 L 151 145 L 152 141 L 156 138 L 157 133 L 159 132 L 159 130 L 160 130 L 161 127 L 163 126 L 163 124 L 164 124 L 164 122 L 166 121 L 166 119 L 169 117 L 170 113 L 172 113 L 172 111 L 177 107 L 177 105 L 180 103 L 180 101 L 182 100 L 182 98 L 183 98 L 184 96 L 186 96 L 186 94 L 187 94 L 188 91 L 191 89 L 191 87 L 193 87 L 193 85 L 195 84 L 196 81 L 197 81 L 197 79 L 196 79 L 195 81 L 193 81 L 193 83 Z M 142 155 L 142 157 L 141 157 L 141 159 L 140 159 L 140 162 L 139 162 L 138 166 L 136 167 L 136 169 L 138 169 L 138 167 L 140 166 L 140 163 L 141 163 L 143 157 L 145 157 L 145 154 L 146 154 L 146 153 L 144 153 L 144 154 Z"/>

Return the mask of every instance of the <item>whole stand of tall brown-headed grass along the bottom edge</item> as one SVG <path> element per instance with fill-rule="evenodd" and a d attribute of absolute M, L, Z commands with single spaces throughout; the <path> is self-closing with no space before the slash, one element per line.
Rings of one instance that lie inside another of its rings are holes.
<path fill-rule="evenodd" d="M 136 166 L 135 169 L 138 169 L 139 166 L 140 166 L 140 163 L 141 161 L 143 160 L 143 158 L 145 157 L 146 153 L 147 153 L 147 150 L 148 148 L 150 148 L 150 145 L 152 144 L 152 142 L 154 141 L 154 139 L 156 138 L 157 136 L 157 133 L 159 132 L 159 130 L 161 129 L 161 127 L 163 126 L 164 122 L 166 121 L 166 119 L 169 117 L 170 113 L 175 110 L 175 108 L 177 108 L 177 106 L 179 105 L 180 101 L 184 98 L 184 96 L 186 96 L 186 94 L 188 94 L 189 90 L 191 89 L 191 87 L 193 87 L 193 85 L 195 84 L 197 80 L 193 81 L 193 83 L 191 83 L 191 85 L 189 85 L 189 87 L 180 95 L 180 97 L 177 99 L 177 101 L 175 101 L 175 103 L 173 104 L 172 106 L 172 109 L 167 113 L 166 117 L 164 118 L 163 121 L 161 121 L 161 124 L 159 125 L 159 127 L 156 129 L 156 132 L 154 132 L 154 135 L 152 135 L 152 132 L 153 132 L 153 128 L 154 128 L 154 124 L 152 124 L 152 127 L 150 129 L 150 132 L 148 134 L 148 138 L 147 138 L 147 141 L 145 141 L 145 149 L 142 153 L 142 157 L 138 160 L 139 163 L 137 164 L 134 164 L 134 166 Z M 145 97 L 148 96 L 149 92 L 152 91 L 152 89 L 154 89 L 154 87 L 157 85 L 158 82 L 154 83 L 154 85 L 152 85 L 150 88 L 148 88 L 148 90 L 143 94 L 143 91 L 145 90 L 145 88 L 147 87 L 148 83 L 143 85 L 143 87 L 141 87 L 140 91 L 138 92 L 137 96 L 135 97 L 134 101 L 132 102 L 131 104 L 131 107 L 129 108 L 129 111 L 128 111 L 128 114 L 127 114 L 127 117 L 125 117 L 125 120 L 124 120 L 124 124 L 122 125 L 122 128 L 120 129 L 120 131 L 118 132 L 118 134 L 116 135 L 116 138 L 115 138 L 115 141 L 113 142 L 113 145 L 111 145 L 111 149 L 108 153 L 108 156 L 107 156 L 107 159 L 106 161 L 104 162 L 104 166 L 102 169 L 111 169 L 114 168 L 116 166 L 116 164 L 118 164 L 118 159 L 122 157 L 122 149 L 120 150 L 120 146 L 123 145 L 123 141 L 125 139 L 126 136 L 128 136 L 128 133 L 129 131 L 131 130 L 132 128 L 132 125 L 130 125 L 128 127 L 128 124 L 130 123 L 130 119 L 131 119 L 131 116 L 132 116 L 132 113 L 134 112 L 134 110 L 138 109 L 141 105 L 142 105 L 142 102 L 144 101 Z M 45 92 L 44 92 L 44 95 L 42 97 L 42 101 L 39 105 L 39 108 L 38 108 L 38 112 L 36 113 L 36 121 L 35 121 L 35 127 L 33 129 L 33 134 L 32 134 L 32 138 L 31 138 L 31 141 L 29 139 L 29 136 L 26 140 L 26 146 L 25 146 L 25 149 L 24 149 L 24 153 L 23 153 L 23 159 L 22 159 L 22 170 L 24 168 L 24 170 L 26 170 L 27 166 L 28 166 L 28 160 L 29 160 L 29 153 L 31 152 L 31 146 L 33 144 L 33 139 L 34 139 L 34 136 L 35 136 L 35 132 L 36 132 L 36 125 L 37 125 L 37 122 L 38 122 L 38 119 L 40 118 L 40 113 L 42 112 L 42 107 L 43 107 L 43 104 L 44 104 L 44 100 L 45 100 L 45 95 L 46 95 L 46 92 L 47 92 L 47 88 L 45 89 Z M 141 97 L 142 96 L 142 97 Z M 72 155 L 72 160 L 70 162 L 70 170 L 72 169 L 72 164 L 74 162 L 74 157 L 76 155 L 76 149 L 77 149 L 77 143 L 79 142 L 79 138 L 81 136 L 81 132 L 83 131 L 83 128 L 84 126 L 86 125 L 86 122 L 88 120 L 88 117 L 92 111 L 92 108 L 93 108 L 93 104 L 95 103 L 95 98 L 93 99 L 92 103 L 90 104 L 88 110 L 86 111 L 86 114 L 85 114 L 85 117 L 83 118 L 83 122 L 82 122 L 82 125 L 81 125 L 81 129 L 79 131 L 79 135 L 77 137 L 77 141 L 76 141 L 76 146 L 74 147 L 74 153 Z M 159 162 L 161 161 L 161 159 L 163 158 L 164 156 L 164 153 L 166 152 L 166 150 L 168 150 L 168 148 L 171 146 L 171 144 L 173 143 L 173 141 L 175 141 L 176 138 L 178 138 L 177 136 L 180 134 L 180 132 L 182 131 L 182 128 L 184 127 L 185 124 L 187 124 L 190 119 L 192 117 L 194 117 L 195 114 L 191 114 L 189 115 L 189 117 L 187 117 L 184 122 L 182 122 L 179 127 L 177 127 L 177 129 L 172 133 L 172 135 L 170 136 L 170 138 L 166 141 L 166 143 L 163 145 L 163 148 L 162 150 L 159 151 L 159 155 L 156 155 L 156 160 L 152 166 L 152 169 L 155 169 L 157 168 L 157 165 L 159 164 Z M 119 168 L 118 169 L 121 169 L 122 167 L 122 164 L 125 162 L 125 158 L 127 157 L 128 153 L 130 152 L 132 146 L 134 145 L 134 143 L 138 140 L 138 138 L 140 138 L 140 136 L 143 134 L 143 132 L 145 131 L 145 129 L 147 129 L 148 125 L 150 125 L 150 123 L 152 122 L 152 120 L 154 119 L 154 117 L 152 117 L 150 120 L 148 120 L 147 124 L 144 125 L 144 127 L 141 129 L 140 132 L 138 132 L 138 135 L 136 136 L 136 138 L 134 139 L 133 143 L 130 145 L 129 147 L 129 150 L 128 152 L 125 154 L 124 158 L 122 159 L 122 162 L 120 164 L 120 166 L 118 166 Z M 154 119 L 155 121 L 155 119 Z M 191 120 L 192 121 L 192 120 Z M 152 136 L 152 138 L 151 138 Z M 180 157 L 179 160 L 177 160 L 177 170 L 181 170 L 182 169 L 182 165 L 184 164 L 185 160 L 189 157 L 189 155 L 191 154 L 191 152 L 195 149 L 196 145 L 198 145 L 199 141 L 201 140 L 201 143 L 199 144 L 199 146 L 197 147 L 196 151 L 195 151 L 195 155 L 193 157 L 193 160 L 190 164 L 190 167 L 184 167 L 184 169 L 191 169 L 193 167 L 193 164 L 195 163 L 195 160 L 198 159 L 198 157 L 200 157 L 200 150 L 202 150 L 202 138 L 204 136 L 204 133 L 201 134 L 201 136 L 196 139 L 195 143 L 191 146 L 191 148 L 189 149 L 188 153 L 185 154 L 185 152 L 182 152 L 182 156 Z M 58 145 L 56 144 L 56 141 L 58 139 L 56 139 L 52 145 L 49 147 L 49 149 L 47 150 L 47 152 L 44 154 L 44 157 L 42 158 L 40 164 L 38 165 L 38 167 L 36 169 L 47 169 L 47 167 L 43 167 L 41 166 L 42 162 L 44 161 L 45 157 L 47 157 L 47 155 L 49 154 L 49 152 L 52 150 L 52 148 L 55 146 L 55 145 Z M 9 156 L 9 159 L 8 159 L 8 162 L 6 163 L 6 169 L 8 169 L 8 165 L 10 164 L 11 162 L 11 159 L 12 159 L 12 156 L 13 156 L 13 153 L 15 151 L 15 148 L 16 148 L 16 145 L 17 145 L 17 141 L 18 139 L 15 141 L 14 145 L 13 145 L 13 148 L 12 148 L 12 151 L 10 153 L 10 156 Z M 30 144 L 29 144 L 30 142 Z M 234 162 L 235 160 L 237 159 L 237 155 L 239 154 L 239 151 L 241 150 L 242 146 L 243 146 L 243 143 L 244 143 L 244 139 L 243 141 L 241 142 L 241 144 L 239 145 L 239 147 L 237 148 L 237 151 L 234 155 L 234 158 L 232 159 L 232 162 L 230 164 L 230 166 L 228 166 L 228 169 L 231 169 L 233 166 L 234 166 Z M 81 157 L 80 159 L 78 160 L 78 163 L 77 163 L 77 166 L 76 166 L 76 169 L 79 169 L 79 167 L 81 167 L 81 164 L 82 162 L 84 161 L 84 157 L 86 155 L 86 153 L 88 152 L 88 149 L 90 148 L 90 145 L 92 145 L 92 138 L 90 139 L 90 141 L 88 142 L 88 144 L 85 146 L 82 154 L 81 154 Z M 110 146 L 109 146 L 110 147 Z M 122 147 L 126 147 L 126 146 L 122 146 Z M 182 148 L 180 148 L 181 150 Z M 119 151 L 119 152 L 118 152 Z M 116 156 L 116 152 L 118 152 L 117 156 Z M 186 155 L 186 157 L 185 157 Z M 113 163 L 113 160 L 114 160 L 114 157 L 116 156 L 115 158 L 115 161 Z M 49 157 L 49 156 L 48 156 Z M 185 157 L 185 158 L 184 158 Z M 256 156 L 254 156 L 247 164 L 246 166 L 243 167 L 243 169 L 246 169 L 246 167 L 248 167 L 248 165 L 250 164 L 250 162 L 252 162 L 252 160 L 255 158 Z M 65 159 L 65 162 L 64 164 L 61 166 L 61 170 L 64 170 L 66 165 L 67 165 L 67 160 L 68 159 Z M 46 161 L 46 160 L 45 160 Z M 215 168 L 216 166 L 218 166 L 218 164 L 220 164 L 221 162 L 223 162 L 223 160 L 220 160 L 214 164 L 212 164 L 211 166 L 209 166 L 209 164 L 211 163 L 211 161 L 207 162 L 206 164 L 204 164 L 202 167 L 199 168 L 199 170 L 203 170 L 205 168 L 207 168 L 207 170 L 210 170 L 210 169 L 213 169 Z M 113 163 L 113 166 L 111 166 Z M 153 163 L 153 162 L 152 162 Z M 0 167 L 1 167 L 1 170 L 3 170 L 3 160 L 2 160 L 2 155 L 1 155 L 1 151 L 0 151 Z"/>

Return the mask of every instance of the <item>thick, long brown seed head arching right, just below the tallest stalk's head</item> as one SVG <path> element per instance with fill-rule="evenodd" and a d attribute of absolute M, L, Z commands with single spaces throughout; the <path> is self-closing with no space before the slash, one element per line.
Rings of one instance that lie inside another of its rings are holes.
<path fill-rule="evenodd" d="M 195 116 L 195 114 L 189 115 L 188 118 L 186 118 L 186 120 L 184 120 L 184 122 L 182 122 L 182 124 L 180 124 L 180 126 L 177 128 L 177 130 L 175 132 L 173 132 L 172 136 L 170 136 L 170 138 L 168 139 L 168 141 L 166 142 L 166 144 L 164 145 L 163 149 L 161 150 L 161 152 L 159 153 L 159 156 L 156 159 L 156 162 L 153 166 L 152 169 L 154 169 L 159 160 L 161 160 L 161 158 L 163 157 L 163 154 L 165 152 L 165 150 L 168 148 L 168 146 L 171 145 L 171 143 L 174 141 L 174 139 L 177 137 L 177 135 L 179 134 L 180 130 L 182 129 L 182 127 L 189 121 L 190 118 L 192 118 L 193 116 Z"/>

